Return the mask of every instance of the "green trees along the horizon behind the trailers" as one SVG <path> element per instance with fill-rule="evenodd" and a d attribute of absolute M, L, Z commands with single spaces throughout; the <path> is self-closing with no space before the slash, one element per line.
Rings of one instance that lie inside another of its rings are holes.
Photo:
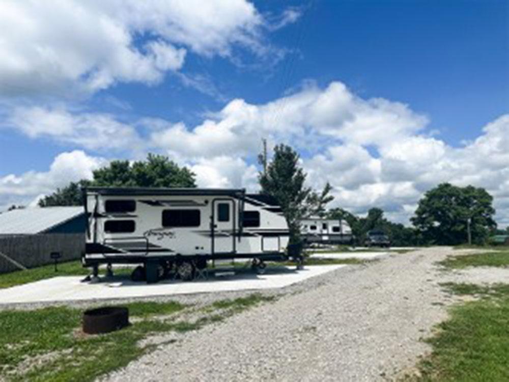
<path fill-rule="evenodd" d="M 334 199 L 331 185 L 326 182 L 318 191 L 306 186 L 307 174 L 299 160 L 298 153 L 283 144 L 274 147 L 270 161 L 263 154 L 259 156 L 264 165 L 258 175 L 260 192 L 279 202 L 288 222 L 291 242 L 300 240 L 299 220 L 307 216 L 345 220 L 358 243 L 363 243 L 371 230 L 384 231 L 393 245 L 455 245 L 469 239 L 472 243 L 483 244 L 496 232 L 493 197 L 484 188 L 439 184 L 420 199 L 411 218 L 413 226 L 407 227 L 390 222 L 377 207 L 367 211 L 365 217 L 340 207 L 327 209 Z M 94 171 L 92 180 L 70 182 L 42 198 L 39 205 L 81 205 L 81 188 L 85 186 L 196 187 L 196 179 L 187 167 L 178 166 L 166 156 L 149 154 L 143 161 L 111 161 L 108 166 Z"/>

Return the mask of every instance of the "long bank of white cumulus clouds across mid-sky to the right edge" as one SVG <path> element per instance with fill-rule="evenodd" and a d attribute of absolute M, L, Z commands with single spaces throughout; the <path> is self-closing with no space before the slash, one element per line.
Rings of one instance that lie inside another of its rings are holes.
<path fill-rule="evenodd" d="M 142 142 L 144 149 L 189 166 L 201 186 L 256 189 L 254 163 L 266 138 L 269 147 L 282 142 L 297 148 L 309 185 L 332 184 L 332 206 L 355 213 L 382 207 L 392 219 L 408 223 L 426 190 L 440 182 L 472 184 L 488 189 L 499 223 L 509 224 L 509 115 L 488 123 L 472 142 L 453 147 L 432 136 L 428 118 L 408 105 L 363 99 L 339 82 L 325 88 L 308 83 L 264 104 L 235 99 L 196 126 L 151 118 L 129 125 L 109 115 L 59 110 L 25 112 L 12 121 L 30 137 L 88 149 L 98 147 L 94 137 L 118 139 L 122 147 Z M 19 179 L 11 174 L 3 181 Z"/>

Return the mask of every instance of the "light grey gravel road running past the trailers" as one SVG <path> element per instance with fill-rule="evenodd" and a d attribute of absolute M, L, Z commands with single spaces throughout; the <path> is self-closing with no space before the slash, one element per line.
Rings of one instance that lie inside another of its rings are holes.
<path fill-rule="evenodd" d="M 277 301 L 160 346 L 111 381 L 376 381 L 412 368 L 447 315 L 450 248 L 393 254 L 309 279 Z M 163 339 L 160 339 L 163 340 Z M 106 378 L 106 379 L 108 379 Z"/>

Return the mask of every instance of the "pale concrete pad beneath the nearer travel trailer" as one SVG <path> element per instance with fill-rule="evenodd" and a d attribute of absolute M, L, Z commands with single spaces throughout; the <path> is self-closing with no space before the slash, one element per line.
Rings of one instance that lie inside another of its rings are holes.
<path fill-rule="evenodd" d="M 90 283 L 81 282 L 82 276 L 54 277 L 2 289 L 0 305 L 282 288 L 344 266 L 346 265 L 315 265 L 302 270 L 283 268 L 268 271 L 264 275 L 237 274 L 193 282 L 167 280 L 157 284 L 132 282 L 127 279 Z"/>

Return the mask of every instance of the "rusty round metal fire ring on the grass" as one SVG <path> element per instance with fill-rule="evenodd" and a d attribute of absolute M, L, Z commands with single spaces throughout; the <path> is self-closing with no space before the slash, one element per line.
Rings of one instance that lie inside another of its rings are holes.
<path fill-rule="evenodd" d="M 129 325 L 129 310 L 124 307 L 101 307 L 83 312 L 83 332 L 109 333 Z"/>

